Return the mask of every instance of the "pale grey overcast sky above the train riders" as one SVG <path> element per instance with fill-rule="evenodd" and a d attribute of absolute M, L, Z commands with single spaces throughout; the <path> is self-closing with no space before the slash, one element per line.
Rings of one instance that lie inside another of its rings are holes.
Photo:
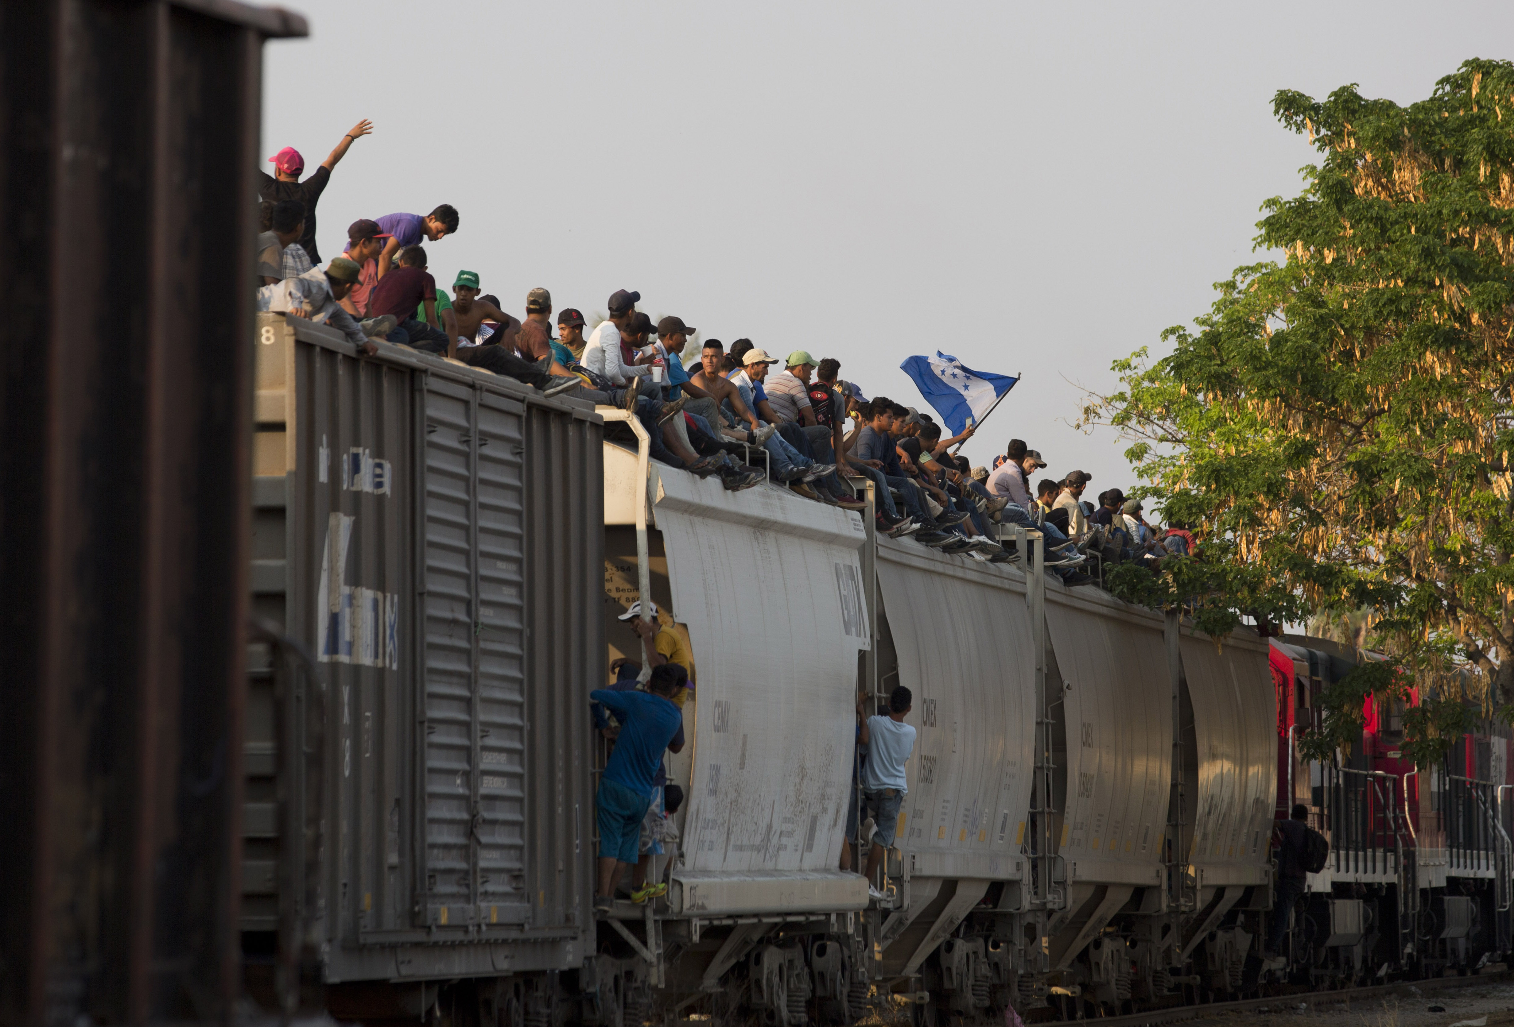
<path fill-rule="evenodd" d="M 1314 159 L 1272 95 L 1410 103 L 1514 39 L 1508 0 L 288 6 L 310 38 L 265 50 L 263 156 L 315 168 L 374 121 L 322 256 L 356 218 L 451 203 L 438 284 L 477 271 L 515 315 L 533 286 L 590 318 L 636 289 L 907 405 L 911 354 L 1023 372 L 966 454 L 1020 437 L 1090 493 L 1136 479 L 1113 433 L 1072 428 L 1079 386 L 1163 352 Z"/>

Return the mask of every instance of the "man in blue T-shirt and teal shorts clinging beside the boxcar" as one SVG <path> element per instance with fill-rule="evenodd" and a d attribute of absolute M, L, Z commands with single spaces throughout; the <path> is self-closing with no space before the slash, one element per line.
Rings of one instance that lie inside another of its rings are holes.
<path fill-rule="evenodd" d="M 621 734 L 600 776 L 595 796 L 595 817 L 600 826 L 600 891 L 593 897 L 595 912 L 607 912 L 615 903 L 615 888 L 621 877 L 640 859 L 642 820 L 651 806 L 657 770 L 663 752 L 681 752 L 677 740 L 683 728 L 683 712 L 672 694 L 683 675 L 675 664 L 653 667 L 646 691 L 612 691 L 597 688 L 589 699 L 600 703 L 621 721 Z M 643 886 L 631 895 L 645 901 Z M 637 897 L 639 895 L 639 897 Z"/>

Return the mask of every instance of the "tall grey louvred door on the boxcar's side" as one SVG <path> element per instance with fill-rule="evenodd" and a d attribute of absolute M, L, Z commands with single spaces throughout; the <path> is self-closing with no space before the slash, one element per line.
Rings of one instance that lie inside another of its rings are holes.
<path fill-rule="evenodd" d="M 427 923 L 525 920 L 524 407 L 425 390 Z"/>

